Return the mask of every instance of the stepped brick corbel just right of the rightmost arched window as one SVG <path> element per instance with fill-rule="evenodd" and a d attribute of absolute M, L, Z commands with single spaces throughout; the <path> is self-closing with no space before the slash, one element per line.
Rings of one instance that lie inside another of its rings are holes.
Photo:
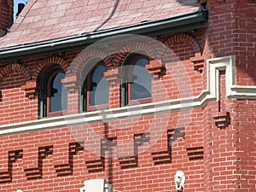
<path fill-rule="evenodd" d="M 163 75 L 165 67 L 160 60 L 149 61 L 149 64 L 145 66 L 149 73 L 152 74 L 153 79 L 160 79 Z"/>

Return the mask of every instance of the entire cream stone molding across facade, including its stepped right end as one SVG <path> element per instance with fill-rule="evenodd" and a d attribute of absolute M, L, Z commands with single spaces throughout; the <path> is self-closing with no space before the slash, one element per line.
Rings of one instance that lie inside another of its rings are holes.
<path fill-rule="evenodd" d="M 86 124 L 93 124 L 115 119 L 125 119 L 127 117 L 132 118 L 203 108 L 208 102 L 218 101 L 220 84 L 219 73 L 223 70 L 226 71 L 226 93 L 228 98 L 256 99 L 256 86 L 236 85 L 236 58 L 231 55 L 207 60 L 207 90 L 203 90 L 199 96 L 38 119 L 11 125 L 0 125 L 0 136 L 20 134 L 23 132 L 44 131 L 71 125 L 84 125 L 85 122 Z"/>

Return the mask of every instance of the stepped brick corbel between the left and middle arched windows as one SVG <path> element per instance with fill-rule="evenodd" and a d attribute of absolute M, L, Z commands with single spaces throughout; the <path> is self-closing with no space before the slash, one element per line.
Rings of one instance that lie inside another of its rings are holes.
<path fill-rule="evenodd" d="M 74 93 L 81 88 L 81 80 L 76 76 L 67 76 L 66 79 L 61 79 L 61 83 L 65 84 L 68 92 Z"/>

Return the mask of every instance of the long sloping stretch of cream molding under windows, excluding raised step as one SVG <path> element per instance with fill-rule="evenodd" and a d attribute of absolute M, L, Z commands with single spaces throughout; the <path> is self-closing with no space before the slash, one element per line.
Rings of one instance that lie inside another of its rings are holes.
<path fill-rule="evenodd" d="M 215 98 L 209 91 L 203 91 L 200 96 L 186 97 L 165 102 L 149 102 L 126 106 L 123 108 L 102 109 L 85 113 L 47 117 L 44 119 L 26 121 L 10 125 L 0 125 L 0 137 L 21 134 L 32 131 L 45 131 L 65 128 L 72 125 L 95 124 L 117 119 L 136 118 L 155 115 L 157 113 L 172 113 L 180 110 L 202 108 Z"/>

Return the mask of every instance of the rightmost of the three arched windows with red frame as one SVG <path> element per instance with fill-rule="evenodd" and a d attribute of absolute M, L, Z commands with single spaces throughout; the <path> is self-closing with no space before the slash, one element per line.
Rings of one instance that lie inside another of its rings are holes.
<path fill-rule="evenodd" d="M 122 83 L 122 103 L 124 106 L 143 102 L 151 102 L 151 79 L 145 65 L 149 64 L 148 56 L 130 55 L 124 63 Z"/>

